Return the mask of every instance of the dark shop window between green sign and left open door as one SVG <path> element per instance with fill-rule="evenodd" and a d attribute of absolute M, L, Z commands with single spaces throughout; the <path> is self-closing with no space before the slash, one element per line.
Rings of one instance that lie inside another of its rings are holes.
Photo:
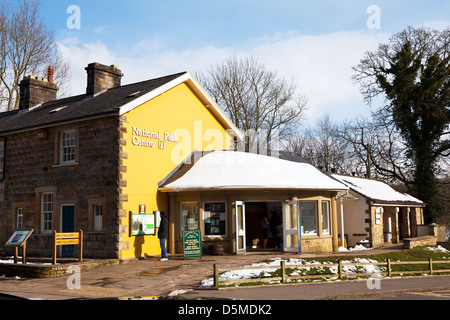
<path fill-rule="evenodd" d="M 222 236 L 226 234 L 225 202 L 206 202 L 203 214 L 206 236 Z"/>

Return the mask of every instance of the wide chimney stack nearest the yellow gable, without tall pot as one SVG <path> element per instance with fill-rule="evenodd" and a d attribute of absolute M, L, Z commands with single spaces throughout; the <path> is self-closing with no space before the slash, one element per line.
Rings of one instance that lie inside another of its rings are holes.
<path fill-rule="evenodd" d="M 100 63 L 90 63 L 86 68 L 86 94 L 93 96 L 104 90 L 120 87 L 123 74 L 115 65 L 105 66 Z"/>

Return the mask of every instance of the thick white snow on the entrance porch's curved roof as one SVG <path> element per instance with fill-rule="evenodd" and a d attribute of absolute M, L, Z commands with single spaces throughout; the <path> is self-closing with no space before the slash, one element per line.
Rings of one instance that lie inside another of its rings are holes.
<path fill-rule="evenodd" d="M 213 151 L 163 190 L 320 189 L 347 190 L 308 163 L 238 151 Z"/>

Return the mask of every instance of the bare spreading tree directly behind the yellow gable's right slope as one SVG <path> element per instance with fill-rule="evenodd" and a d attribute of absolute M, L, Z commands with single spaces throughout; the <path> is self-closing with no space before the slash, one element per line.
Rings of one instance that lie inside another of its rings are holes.
<path fill-rule="evenodd" d="M 238 128 L 256 135 L 264 131 L 268 141 L 275 130 L 281 139 L 293 134 L 306 109 L 293 80 L 253 58 L 231 56 L 199 78 Z"/>

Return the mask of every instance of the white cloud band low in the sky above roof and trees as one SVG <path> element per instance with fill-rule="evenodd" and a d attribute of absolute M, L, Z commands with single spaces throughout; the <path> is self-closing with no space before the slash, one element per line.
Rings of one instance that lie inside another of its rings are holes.
<path fill-rule="evenodd" d="M 84 68 L 91 62 L 117 65 L 124 73 L 122 83 L 128 84 L 181 71 L 205 72 L 232 52 L 238 56 L 252 54 L 280 76 L 294 78 L 299 92 L 309 101 L 309 119 L 328 114 L 340 121 L 367 113 L 359 88 L 350 79 L 351 67 L 365 51 L 376 49 L 389 36 L 370 30 L 318 36 L 289 32 L 252 39 L 251 47 L 240 51 L 212 46 L 168 50 L 159 39 L 143 40 L 122 53 L 100 41 L 80 44 L 66 39 L 59 42 L 59 48 L 71 63 L 71 94 L 85 91 Z"/>

